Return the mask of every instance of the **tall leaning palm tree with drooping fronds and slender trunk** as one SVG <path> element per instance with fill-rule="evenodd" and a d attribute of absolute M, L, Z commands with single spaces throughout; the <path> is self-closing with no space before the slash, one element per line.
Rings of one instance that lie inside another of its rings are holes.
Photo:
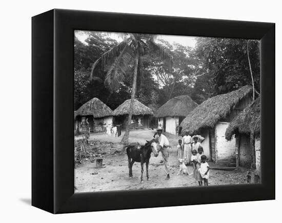
<path fill-rule="evenodd" d="M 120 86 L 120 83 L 123 82 L 127 73 L 133 69 L 130 110 L 125 135 L 121 141 L 123 144 L 128 144 L 137 73 L 139 73 L 138 69 L 142 67 L 142 56 L 144 52 L 147 49 L 151 49 L 158 57 L 166 60 L 170 67 L 172 66 L 170 55 L 154 42 L 155 38 L 156 35 L 154 34 L 124 33 L 123 41 L 103 53 L 92 67 L 91 78 L 95 78 L 94 70 L 97 67 L 107 70 L 104 83 L 110 88 L 111 92 Z"/>

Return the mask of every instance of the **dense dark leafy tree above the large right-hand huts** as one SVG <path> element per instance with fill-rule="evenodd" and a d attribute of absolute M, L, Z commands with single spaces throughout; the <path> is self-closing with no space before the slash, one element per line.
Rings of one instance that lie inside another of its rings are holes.
<path fill-rule="evenodd" d="M 211 77 L 213 95 L 224 94 L 246 84 L 252 85 L 245 39 L 197 38 L 195 55 L 204 62 L 204 72 Z M 249 43 L 254 88 L 260 91 L 259 42 Z"/>

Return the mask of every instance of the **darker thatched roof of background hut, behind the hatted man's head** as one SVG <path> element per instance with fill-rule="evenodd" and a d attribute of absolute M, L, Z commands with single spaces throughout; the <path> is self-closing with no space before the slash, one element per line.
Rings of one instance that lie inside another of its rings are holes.
<path fill-rule="evenodd" d="M 186 117 L 195 107 L 197 107 L 197 103 L 194 102 L 188 95 L 181 95 L 170 99 L 167 103 L 160 106 L 155 113 L 155 117 Z"/>

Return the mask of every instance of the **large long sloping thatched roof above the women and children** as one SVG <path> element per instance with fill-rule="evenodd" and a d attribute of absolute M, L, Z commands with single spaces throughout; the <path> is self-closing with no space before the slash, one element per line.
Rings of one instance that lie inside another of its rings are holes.
<path fill-rule="evenodd" d="M 199 132 L 203 128 L 213 128 L 215 124 L 226 118 L 241 99 L 249 95 L 252 87 L 246 85 L 227 94 L 217 95 L 198 105 L 180 124 L 182 133 Z"/>

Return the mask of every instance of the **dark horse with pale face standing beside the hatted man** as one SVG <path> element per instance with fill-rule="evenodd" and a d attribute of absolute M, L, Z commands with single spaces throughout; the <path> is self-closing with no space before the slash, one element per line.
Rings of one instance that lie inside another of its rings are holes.
<path fill-rule="evenodd" d="M 140 162 L 141 163 L 141 182 L 143 183 L 143 166 L 144 163 L 146 163 L 146 175 L 147 180 L 149 180 L 149 173 L 148 173 L 148 167 L 149 167 L 149 160 L 151 157 L 151 153 L 154 154 L 155 157 L 157 157 L 157 143 L 155 140 L 147 141 L 145 145 L 139 145 L 138 143 L 131 143 L 126 146 L 126 153 L 128 156 L 128 168 L 129 168 L 129 177 L 132 177 L 132 165 L 134 162 Z"/>

